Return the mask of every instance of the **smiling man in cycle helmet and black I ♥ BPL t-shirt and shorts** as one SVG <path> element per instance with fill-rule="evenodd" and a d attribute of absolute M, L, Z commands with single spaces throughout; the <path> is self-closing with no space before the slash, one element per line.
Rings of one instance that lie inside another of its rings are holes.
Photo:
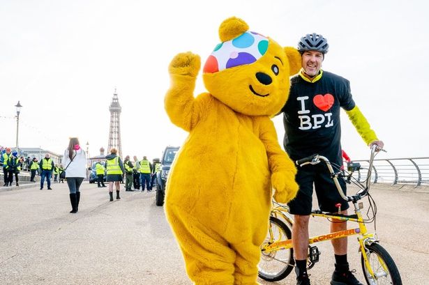
<path fill-rule="evenodd" d="M 328 52 L 326 38 L 317 33 L 303 36 L 298 43 L 301 53 L 301 71 L 291 79 L 289 99 L 282 109 L 285 125 L 285 151 L 292 160 L 299 160 L 315 153 L 327 157 L 331 163 L 342 165 L 340 108 L 345 109 L 350 121 L 366 144 L 383 142 L 377 139 L 368 121 L 356 106 L 350 93 L 349 81 L 322 70 L 322 61 Z M 346 192 L 344 180 L 339 180 Z M 316 164 L 299 167 L 296 174 L 299 192 L 289 202 L 294 215 L 292 240 L 296 261 L 297 285 L 308 285 L 306 270 L 308 256 L 308 220 L 312 208 L 313 185 L 320 210 L 347 215 L 349 205 L 338 193 L 326 165 Z M 340 209 L 337 208 L 341 204 Z M 331 232 L 347 229 L 346 222 L 331 223 Z M 335 254 L 335 270 L 332 285 L 361 284 L 349 270 L 347 262 L 347 238 L 332 240 Z"/>

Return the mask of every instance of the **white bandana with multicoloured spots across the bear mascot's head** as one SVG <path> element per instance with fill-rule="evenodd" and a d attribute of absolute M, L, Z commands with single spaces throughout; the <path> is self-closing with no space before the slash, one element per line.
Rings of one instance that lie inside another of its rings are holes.
<path fill-rule="evenodd" d="M 268 49 L 268 38 L 253 31 L 216 45 L 204 65 L 204 73 L 214 73 L 257 61 Z"/>

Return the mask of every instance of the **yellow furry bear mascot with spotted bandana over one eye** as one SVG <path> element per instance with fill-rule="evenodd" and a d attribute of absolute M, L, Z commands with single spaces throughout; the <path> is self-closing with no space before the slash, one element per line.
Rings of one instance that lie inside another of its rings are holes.
<path fill-rule="evenodd" d="M 203 70 L 209 93 L 193 94 L 200 56 L 170 63 L 165 109 L 189 136 L 172 165 L 165 212 L 195 284 L 257 284 L 271 189 L 282 203 L 298 190 L 270 116 L 285 105 L 301 56 L 236 17 L 219 36 Z"/>

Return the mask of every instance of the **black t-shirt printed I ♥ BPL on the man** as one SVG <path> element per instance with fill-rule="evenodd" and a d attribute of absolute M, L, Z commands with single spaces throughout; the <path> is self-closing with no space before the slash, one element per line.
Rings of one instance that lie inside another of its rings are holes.
<path fill-rule="evenodd" d="M 317 153 L 341 164 L 340 108 L 354 106 L 347 79 L 326 71 L 316 82 L 295 75 L 282 109 L 285 151 L 292 160 Z"/>

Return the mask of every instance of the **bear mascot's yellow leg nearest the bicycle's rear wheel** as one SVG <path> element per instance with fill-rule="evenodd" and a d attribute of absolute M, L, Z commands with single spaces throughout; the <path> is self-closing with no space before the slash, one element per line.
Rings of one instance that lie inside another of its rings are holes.
<path fill-rule="evenodd" d="M 259 245 L 259 243 L 255 245 L 252 239 L 230 245 L 236 252 L 234 284 L 258 284 L 256 279 L 257 263 L 260 258 Z"/>

